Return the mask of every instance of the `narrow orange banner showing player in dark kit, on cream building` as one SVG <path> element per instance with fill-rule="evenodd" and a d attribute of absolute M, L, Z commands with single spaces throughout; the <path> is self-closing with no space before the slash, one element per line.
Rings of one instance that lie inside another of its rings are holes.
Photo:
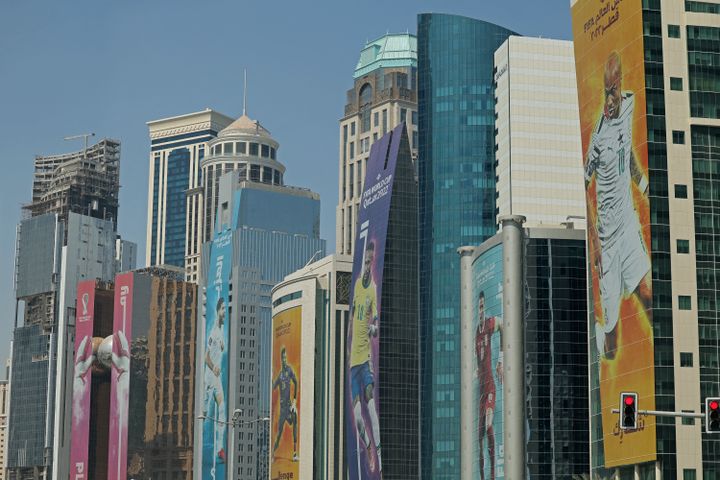
<path fill-rule="evenodd" d="M 271 480 L 300 478 L 300 358 L 302 307 L 284 310 L 272 320 Z"/>

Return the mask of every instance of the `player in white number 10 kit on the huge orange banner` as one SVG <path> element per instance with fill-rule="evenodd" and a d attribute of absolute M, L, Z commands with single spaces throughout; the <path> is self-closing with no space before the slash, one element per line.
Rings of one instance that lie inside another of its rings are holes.
<path fill-rule="evenodd" d="M 647 195 L 648 180 L 633 155 L 635 97 L 622 92 L 622 64 L 617 52 L 605 63 L 605 108 L 590 139 L 585 160 L 586 189 L 595 180 L 597 215 L 589 222 L 591 261 L 600 277 L 604 323 L 595 324 L 598 352 L 615 357 L 620 304 L 637 295 L 650 312 L 650 258 L 632 197 L 632 182 Z"/>

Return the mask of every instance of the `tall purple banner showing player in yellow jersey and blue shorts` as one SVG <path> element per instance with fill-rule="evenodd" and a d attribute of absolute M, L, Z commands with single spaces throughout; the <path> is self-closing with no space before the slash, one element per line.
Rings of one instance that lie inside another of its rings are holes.
<path fill-rule="evenodd" d="M 358 211 L 345 375 L 345 449 L 350 480 L 382 478 L 380 300 L 390 199 L 404 129 L 401 123 L 373 144 Z"/>

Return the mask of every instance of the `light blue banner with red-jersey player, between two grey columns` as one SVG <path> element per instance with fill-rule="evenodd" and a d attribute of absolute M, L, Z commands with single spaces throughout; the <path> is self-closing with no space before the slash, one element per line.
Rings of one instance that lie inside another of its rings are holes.
<path fill-rule="evenodd" d="M 503 448 L 503 246 L 491 247 L 473 264 L 475 372 L 477 405 L 473 427 L 473 479 L 505 478 Z"/>

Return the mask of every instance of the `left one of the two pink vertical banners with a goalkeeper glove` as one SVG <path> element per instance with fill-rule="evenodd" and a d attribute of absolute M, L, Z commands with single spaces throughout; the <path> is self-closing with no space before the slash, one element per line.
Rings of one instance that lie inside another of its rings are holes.
<path fill-rule="evenodd" d="M 78 283 L 75 313 L 75 363 L 70 440 L 70 479 L 88 478 L 90 438 L 90 389 L 95 361 L 93 323 L 95 320 L 95 280 Z"/>

